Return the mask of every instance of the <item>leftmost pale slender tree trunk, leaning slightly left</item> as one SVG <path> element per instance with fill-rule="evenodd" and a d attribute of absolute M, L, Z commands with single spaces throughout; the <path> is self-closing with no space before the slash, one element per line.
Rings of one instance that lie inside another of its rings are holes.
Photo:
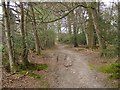
<path fill-rule="evenodd" d="M 7 50 L 9 55 L 9 64 L 10 70 L 12 73 L 16 71 L 14 57 L 13 57 L 13 47 L 11 41 L 11 33 L 10 33 L 10 23 L 9 23 L 9 14 L 8 9 L 5 5 L 5 2 L 2 3 L 3 5 L 3 13 L 4 13 L 4 24 L 5 24 L 5 35 L 6 35 L 6 43 L 7 43 Z"/>

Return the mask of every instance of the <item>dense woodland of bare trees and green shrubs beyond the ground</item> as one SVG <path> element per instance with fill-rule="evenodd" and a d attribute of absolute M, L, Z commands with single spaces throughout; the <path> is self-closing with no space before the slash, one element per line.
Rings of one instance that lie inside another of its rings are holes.
<path fill-rule="evenodd" d="M 120 3 L 2 2 L 2 63 L 11 73 L 28 68 L 28 54 L 56 43 L 98 49 L 120 70 Z M 119 73 L 116 71 L 118 77 Z"/>

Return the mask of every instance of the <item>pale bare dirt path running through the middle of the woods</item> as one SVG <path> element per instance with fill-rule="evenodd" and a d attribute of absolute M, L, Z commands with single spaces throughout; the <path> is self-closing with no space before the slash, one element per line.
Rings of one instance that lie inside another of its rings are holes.
<path fill-rule="evenodd" d="M 69 50 L 62 45 L 51 53 L 49 77 L 53 88 L 104 88 L 97 80 L 96 72 L 90 69 L 88 59 L 82 53 Z"/>

